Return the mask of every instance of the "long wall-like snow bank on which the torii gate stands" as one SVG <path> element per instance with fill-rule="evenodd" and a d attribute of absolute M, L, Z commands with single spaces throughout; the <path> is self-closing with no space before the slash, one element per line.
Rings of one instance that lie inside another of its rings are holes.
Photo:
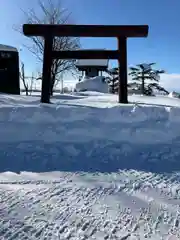
<path fill-rule="evenodd" d="M 51 105 L 0 96 L 0 171 L 179 170 L 180 101 L 129 98 L 136 104 L 110 94 L 61 95 Z"/>

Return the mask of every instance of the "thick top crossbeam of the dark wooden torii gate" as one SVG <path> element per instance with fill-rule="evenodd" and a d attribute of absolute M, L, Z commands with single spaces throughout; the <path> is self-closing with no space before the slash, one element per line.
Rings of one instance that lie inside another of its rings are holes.
<path fill-rule="evenodd" d="M 57 37 L 147 37 L 148 25 L 24 24 L 23 33 L 29 37 L 47 33 Z"/>

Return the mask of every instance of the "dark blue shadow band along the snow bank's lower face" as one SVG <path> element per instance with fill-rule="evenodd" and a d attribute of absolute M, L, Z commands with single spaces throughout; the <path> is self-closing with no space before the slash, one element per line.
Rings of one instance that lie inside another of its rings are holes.
<path fill-rule="evenodd" d="M 2 143 L 0 172 L 117 172 L 135 169 L 155 173 L 180 170 L 179 144 L 131 145 L 111 141 Z"/>

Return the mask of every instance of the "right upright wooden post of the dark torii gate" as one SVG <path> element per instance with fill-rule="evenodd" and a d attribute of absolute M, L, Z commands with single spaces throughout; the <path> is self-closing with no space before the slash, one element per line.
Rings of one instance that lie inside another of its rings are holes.
<path fill-rule="evenodd" d="M 119 103 L 128 103 L 127 91 L 127 39 L 118 38 L 118 58 L 119 67 Z"/>

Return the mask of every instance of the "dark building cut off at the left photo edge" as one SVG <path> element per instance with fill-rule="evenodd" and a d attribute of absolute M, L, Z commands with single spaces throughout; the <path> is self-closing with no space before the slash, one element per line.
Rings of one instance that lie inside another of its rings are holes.
<path fill-rule="evenodd" d="M 0 44 L 0 92 L 20 94 L 18 50 L 2 44 Z"/>

